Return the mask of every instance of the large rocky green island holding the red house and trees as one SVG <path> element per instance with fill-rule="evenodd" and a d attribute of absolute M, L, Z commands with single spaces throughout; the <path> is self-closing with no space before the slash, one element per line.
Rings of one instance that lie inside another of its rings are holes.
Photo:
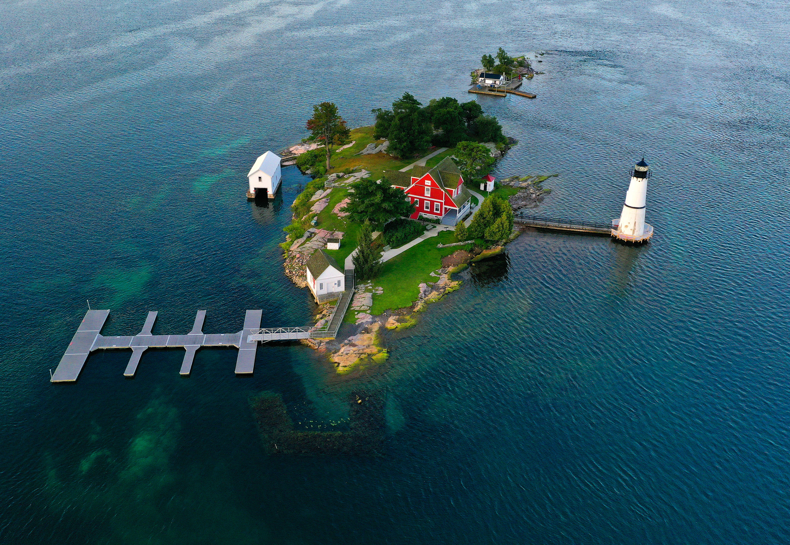
<path fill-rule="evenodd" d="M 538 205 L 548 176 L 495 184 L 495 161 L 517 142 L 474 100 L 423 105 L 406 92 L 371 111 L 373 126 L 355 129 L 334 103 L 313 109 L 310 137 L 280 152 L 313 177 L 280 246 L 285 273 L 318 303 L 318 327 L 333 319 L 344 272 L 354 269 L 344 316 L 353 334 L 302 341 L 348 374 L 386 361 L 385 331 L 411 327 L 427 303 L 457 290 L 453 273 L 500 253 L 519 232 L 508 199 Z"/>

